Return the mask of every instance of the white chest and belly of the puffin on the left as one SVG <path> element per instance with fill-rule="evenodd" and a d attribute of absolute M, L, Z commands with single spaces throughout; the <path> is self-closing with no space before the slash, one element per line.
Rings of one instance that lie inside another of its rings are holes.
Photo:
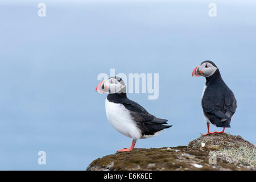
<path fill-rule="evenodd" d="M 141 130 L 138 129 L 136 123 L 131 119 L 129 110 L 125 106 L 109 102 L 106 98 L 105 107 L 106 117 L 114 129 L 126 137 L 131 137 L 135 140 L 141 138 Z"/>

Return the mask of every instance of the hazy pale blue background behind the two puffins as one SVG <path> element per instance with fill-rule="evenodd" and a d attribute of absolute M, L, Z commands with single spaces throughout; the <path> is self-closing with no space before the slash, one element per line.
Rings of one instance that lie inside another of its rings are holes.
<path fill-rule="evenodd" d="M 212 2 L 216 17 L 208 15 Z M 173 126 L 135 147 L 187 145 L 207 132 L 205 78 L 191 77 L 204 60 L 237 98 L 225 131 L 255 144 L 255 9 L 253 1 L 1 1 L 0 169 L 85 170 L 129 147 L 106 118 L 106 94 L 95 92 L 97 76 L 112 68 L 159 74 L 158 99 L 127 97 Z"/>

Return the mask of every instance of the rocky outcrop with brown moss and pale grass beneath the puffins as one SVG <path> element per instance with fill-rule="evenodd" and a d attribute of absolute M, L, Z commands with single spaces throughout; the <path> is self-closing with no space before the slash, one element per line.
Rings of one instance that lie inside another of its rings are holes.
<path fill-rule="evenodd" d="M 135 148 L 94 160 L 87 170 L 255 170 L 255 146 L 240 136 L 201 136 L 188 146 Z"/>

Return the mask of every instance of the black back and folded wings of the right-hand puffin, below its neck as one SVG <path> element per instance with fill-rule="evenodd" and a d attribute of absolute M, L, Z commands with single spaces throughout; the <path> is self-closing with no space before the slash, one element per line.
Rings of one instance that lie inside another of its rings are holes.
<path fill-rule="evenodd" d="M 217 127 L 230 127 L 229 123 L 236 112 L 237 101 L 228 86 L 205 89 L 202 99 L 204 115 Z"/>

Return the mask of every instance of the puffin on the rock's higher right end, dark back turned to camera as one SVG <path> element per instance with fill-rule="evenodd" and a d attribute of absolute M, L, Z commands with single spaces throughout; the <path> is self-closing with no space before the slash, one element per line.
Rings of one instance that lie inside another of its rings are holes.
<path fill-rule="evenodd" d="M 225 127 L 230 127 L 231 118 L 236 112 L 236 97 L 222 80 L 220 70 L 212 61 L 203 61 L 193 69 L 192 76 L 203 76 L 206 79 L 201 105 L 208 131 L 203 135 L 224 133 Z M 217 127 L 223 127 L 223 130 L 210 132 L 210 123 Z"/>

